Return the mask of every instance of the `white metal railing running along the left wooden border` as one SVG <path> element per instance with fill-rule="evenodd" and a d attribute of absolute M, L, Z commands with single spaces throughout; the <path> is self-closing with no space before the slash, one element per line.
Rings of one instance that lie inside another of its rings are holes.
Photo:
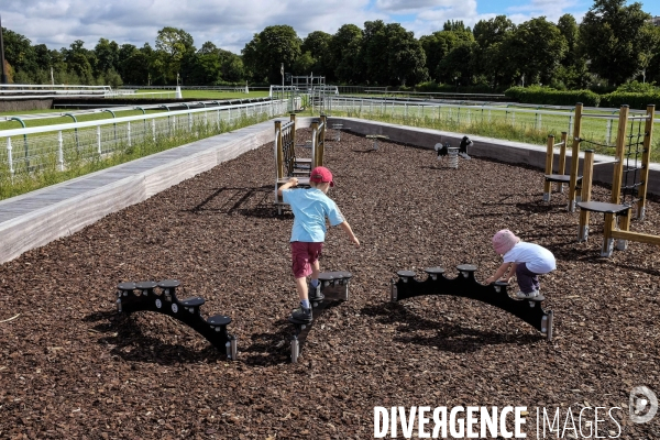
<path fill-rule="evenodd" d="M 287 111 L 288 100 L 209 107 L 0 131 L 0 177 L 30 173 L 47 165 L 66 169 L 69 163 L 90 161 L 156 142 L 180 132 L 220 130 L 241 118 L 273 118 Z"/>

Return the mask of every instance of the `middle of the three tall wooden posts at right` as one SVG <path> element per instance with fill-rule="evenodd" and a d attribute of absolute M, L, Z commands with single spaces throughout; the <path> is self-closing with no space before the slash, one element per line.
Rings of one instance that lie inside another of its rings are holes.
<path fill-rule="evenodd" d="M 618 131 L 616 136 L 616 162 L 614 164 L 614 169 L 612 173 L 612 196 L 609 201 L 612 204 L 618 205 L 620 202 L 620 193 L 622 193 L 622 176 L 624 174 L 624 153 L 626 150 L 626 129 L 628 128 L 628 113 L 630 108 L 628 106 L 622 106 L 619 109 L 619 122 L 618 122 Z M 624 230 L 628 230 L 630 222 L 630 212 L 623 219 Z M 601 255 L 609 255 L 610 250 L 613 249 L 613 238 L 612 231 L 616 229 L 616 216 L 613 213 L 605 213 L 605 223 L 603 226 L 603 251 Z M 619 243 L 620 248 L 625 249 L 625 243 Z"/>

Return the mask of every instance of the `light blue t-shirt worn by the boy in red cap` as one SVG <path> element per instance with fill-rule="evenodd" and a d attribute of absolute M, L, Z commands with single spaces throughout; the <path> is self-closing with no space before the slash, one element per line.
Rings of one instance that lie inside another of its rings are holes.
<path fill-rule="evenodd" d="M 290 241 L 322 243 L 326 241 L 326 217 L 333 227 L 344 222 L 337 204 L 320 189 L 285 189 L 282 200 L 294 211 Z"/>

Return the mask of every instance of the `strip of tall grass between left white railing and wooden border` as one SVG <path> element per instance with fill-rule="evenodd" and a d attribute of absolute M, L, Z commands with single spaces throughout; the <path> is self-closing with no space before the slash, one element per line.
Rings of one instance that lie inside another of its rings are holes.
<path fill-rule="evenodd" d="M 4 173 L 1 174 L 0 200 L 59 184 L 140 157 L 145 157 L 200 139 L 253 125 L 268 119 L 270 117 L 267 113 L 261 113 L 251 117 L 242 116 L 240 119 L 237 119 L 231 123 L 223 123 L 220 127 L 216 123 L 196 123 L 189 131 L 180 128 L 170 134 L 157 135 L 155 141 L 150 136 L 145 136 L 144 140 L 133 142 L 130 146 L 128 143 L 123 143 L 120 145 L 120 148 L 113 153 L 97 155 L 91 160 L 80 158 L 77 157 L 75 153 L 69 153 L 65 157 L 65 163 L 67 165 L 64 170 L 59 170 L 56 154 L 50 154 L 41 160 L 38 170 L 31 172 L 30 169 L 22 168 L 13 176 Z"/>

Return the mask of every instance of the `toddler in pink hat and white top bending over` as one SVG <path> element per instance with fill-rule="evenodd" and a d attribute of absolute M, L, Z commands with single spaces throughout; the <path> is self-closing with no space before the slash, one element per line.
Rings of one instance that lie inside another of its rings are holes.
<path fill-rule="evenodd" d="M 557 268 L 552 252 L 538 244 L 520 241 L 508 229 L 503 229 L 493 237 L 493 249 L 503 255 L 504 263 L 492 277 L 486 279 L 486 284 L 494 283 L 499 278 L 508 283 L 516 274 L 518 287 L 520 287 L 520 292 L 516 294 L 518 298 L 538 296 L 540 289 L 539 275 L 550 273 Z"/>

